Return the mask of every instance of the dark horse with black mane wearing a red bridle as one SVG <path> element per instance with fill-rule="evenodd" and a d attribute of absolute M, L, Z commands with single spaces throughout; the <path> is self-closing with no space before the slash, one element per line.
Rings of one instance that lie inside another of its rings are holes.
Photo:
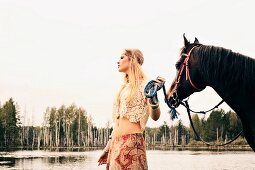
<path fill-rule="evenodd" d="M 176 108 L 193 93 L 212 87 L 240 118 L 243 135 L 255 152 L 255 59 L 224 47 L 203 45 L 197 38 L 191 43 L 185 34 L 183 38 L 167 100 Z"/>

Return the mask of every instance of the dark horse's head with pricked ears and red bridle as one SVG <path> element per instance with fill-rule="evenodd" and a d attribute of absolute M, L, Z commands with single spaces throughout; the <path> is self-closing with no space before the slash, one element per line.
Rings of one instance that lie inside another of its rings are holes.
<path fill-rule="evenodd" d="M 167 93 L 172 107 L 178 107 L 183 99 L 206 87 L 201 77 L 199 60 L 194 54 L 196 48 L 202 44 L 197 38 L 194 43 L 190 43 L 184 34 L 183 38 L 184 47 L 181 49 L 180 59 L 176 62 L 176 77 Z"/>

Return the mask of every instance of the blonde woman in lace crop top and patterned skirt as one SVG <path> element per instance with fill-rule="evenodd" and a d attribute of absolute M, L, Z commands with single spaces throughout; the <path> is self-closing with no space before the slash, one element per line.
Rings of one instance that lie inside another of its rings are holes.
<path fill-rule="evenodd" d="M 124 84 L 114 102 L 113 132 L 98 160 L 99 165 L 107 163 L 106 169 L 148 169 L 143 131 L 149 115 L 155 121 L 159 119 L 160 108 L 144 97 L 143 61 L 140 50 L 125 49 L 117 62 L 119 72 L 124 73 Z M 164 79 L 155 81 L 159 84 Z"/>

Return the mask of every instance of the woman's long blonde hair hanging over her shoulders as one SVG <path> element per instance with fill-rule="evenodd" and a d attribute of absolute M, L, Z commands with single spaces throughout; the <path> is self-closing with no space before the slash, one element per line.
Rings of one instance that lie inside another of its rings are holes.
<path fill-rule="evenodd" d="M 120 93 L 127 83 L 130 83 L 130 93 L 126 100 L 128 103 L 133 99 L 135 92 L 137 92 L 139 86 L 145 80 L 145 74 L 141 67 L 144 62 L 143 53 L 139 49 L 129 48 L 124 49 L 124 54 L 130 59 L 129 74 L 124 75 L 124 84 L 121 86 L 116 97 L 117 104 L 120 103 Z"/>

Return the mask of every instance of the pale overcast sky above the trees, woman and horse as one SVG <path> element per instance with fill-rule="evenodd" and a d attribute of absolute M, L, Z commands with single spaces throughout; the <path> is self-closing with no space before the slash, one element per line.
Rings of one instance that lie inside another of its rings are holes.
<path fill-rule="evenodd" d="M 26 122 L 37 125 L 48 106 L 75 103 L 105 126 L 124 48 L 141 49 L 149 79 L 163 76 L 169 88 L 183 33 L 254 58 L 254 6 L 253 0 L 0 0 L 0 102 L 12 97 Z M 148 126 L 173 123 L 162 94 L 159 100 L 162 115 Z M 206 88 L 190 97 L 190 106 L 206 110 L 220 100 Z M 185 110 L 178 111 L 187 124 Z"/>

